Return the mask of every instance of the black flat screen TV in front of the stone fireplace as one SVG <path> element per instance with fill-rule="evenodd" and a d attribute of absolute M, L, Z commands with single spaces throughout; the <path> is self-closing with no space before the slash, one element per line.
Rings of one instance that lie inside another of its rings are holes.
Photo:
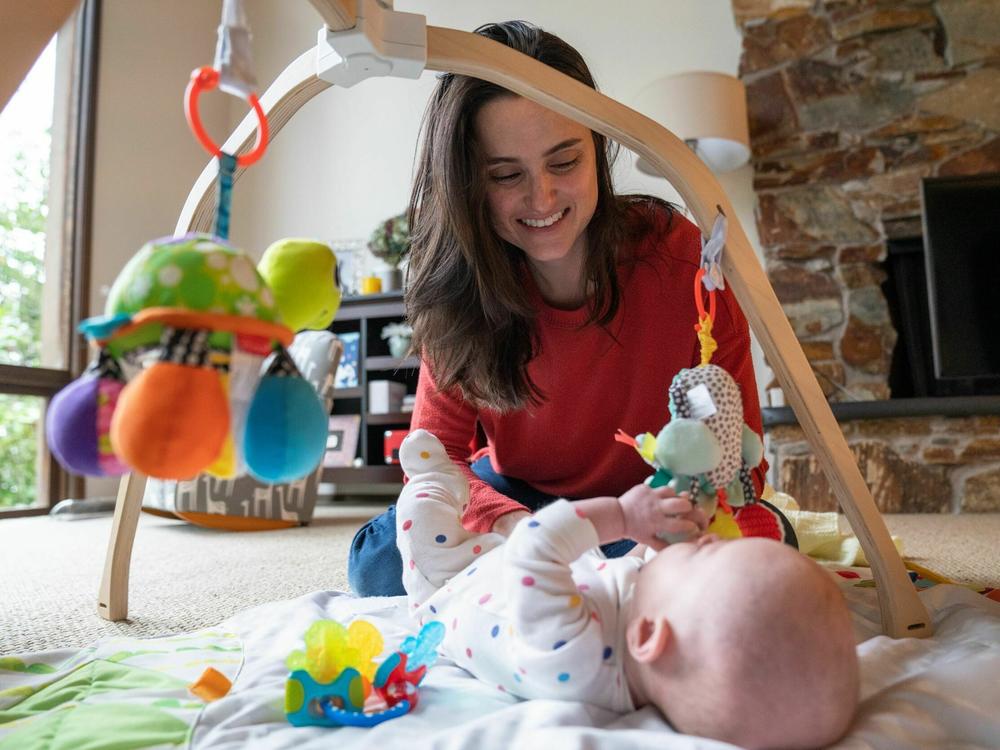
<path fill-rule="evenodd" d="M 934 373 L 958 393 L 1000 392 L 1000 174 L 923 181 Z"/>

